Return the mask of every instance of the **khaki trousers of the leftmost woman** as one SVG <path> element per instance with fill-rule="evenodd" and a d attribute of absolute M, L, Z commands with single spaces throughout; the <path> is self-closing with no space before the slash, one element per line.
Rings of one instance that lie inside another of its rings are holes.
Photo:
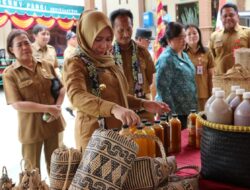
<path fill-rule="evenodd" d="M 22 156 L 25 160 L 25 168 L 34 169 L 40 168 L 41 152 L 42 148 L 45 154 L 45 162 L 47 167 L 47 172 L 50 174 L 50 160 L 52 153 L 55 149 L 59 147 L 59 135 L 52 136 L 44 141 L 31 143 L 31 144 L 22 144 Z M 33 168 L 31 168 L 33 167 Z"/>

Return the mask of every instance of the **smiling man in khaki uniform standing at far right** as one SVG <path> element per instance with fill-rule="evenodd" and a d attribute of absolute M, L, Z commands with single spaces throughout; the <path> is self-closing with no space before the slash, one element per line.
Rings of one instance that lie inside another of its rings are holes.
<path fill-rule="evenodd" d="M 226 73 L 234 65 L 234 50 L 250 47 L 250 29 L 240 26 L 238 8 L 226 3 L 220 10 L 223 29 L 211 35 L 209 48 L 214 57 L 215 74 Z"/>

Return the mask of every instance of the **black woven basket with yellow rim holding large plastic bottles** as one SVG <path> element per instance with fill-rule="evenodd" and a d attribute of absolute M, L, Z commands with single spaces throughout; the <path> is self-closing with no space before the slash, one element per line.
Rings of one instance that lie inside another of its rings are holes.
<path fill-rule="evenodd" d="M 212 123 L 201 114 L 201 175 L 250 188 L 250 126 Z"/>

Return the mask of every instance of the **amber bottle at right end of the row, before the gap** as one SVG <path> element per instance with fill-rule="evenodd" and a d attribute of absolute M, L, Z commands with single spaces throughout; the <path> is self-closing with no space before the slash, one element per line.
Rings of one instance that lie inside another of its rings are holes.
<path fill-rule="evenodd" d="M 178 119 L 177 114 L 172 114 L 169 120 L 170 124 L 170 149 L 172 153 L 181 152 L 181 121 Z"/>

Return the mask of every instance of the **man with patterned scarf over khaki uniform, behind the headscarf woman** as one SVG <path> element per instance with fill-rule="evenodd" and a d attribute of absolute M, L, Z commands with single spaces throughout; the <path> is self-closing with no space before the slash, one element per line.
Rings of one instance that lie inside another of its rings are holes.
<path fill-rule="evenodd" d="M 151 99 L 150 85 L 152 84 L 155 67 L 148 50 L 131 39 L 133 33 L 133 15 L 130 10 L 118 9 L 110 15 L 116 42 L 113 54 L 117 64 L 123 67 L 129 84 L 129 94 L 138 98 Z M 154 120 L 151 113 L 138 111 L 141 118 Z"/>

